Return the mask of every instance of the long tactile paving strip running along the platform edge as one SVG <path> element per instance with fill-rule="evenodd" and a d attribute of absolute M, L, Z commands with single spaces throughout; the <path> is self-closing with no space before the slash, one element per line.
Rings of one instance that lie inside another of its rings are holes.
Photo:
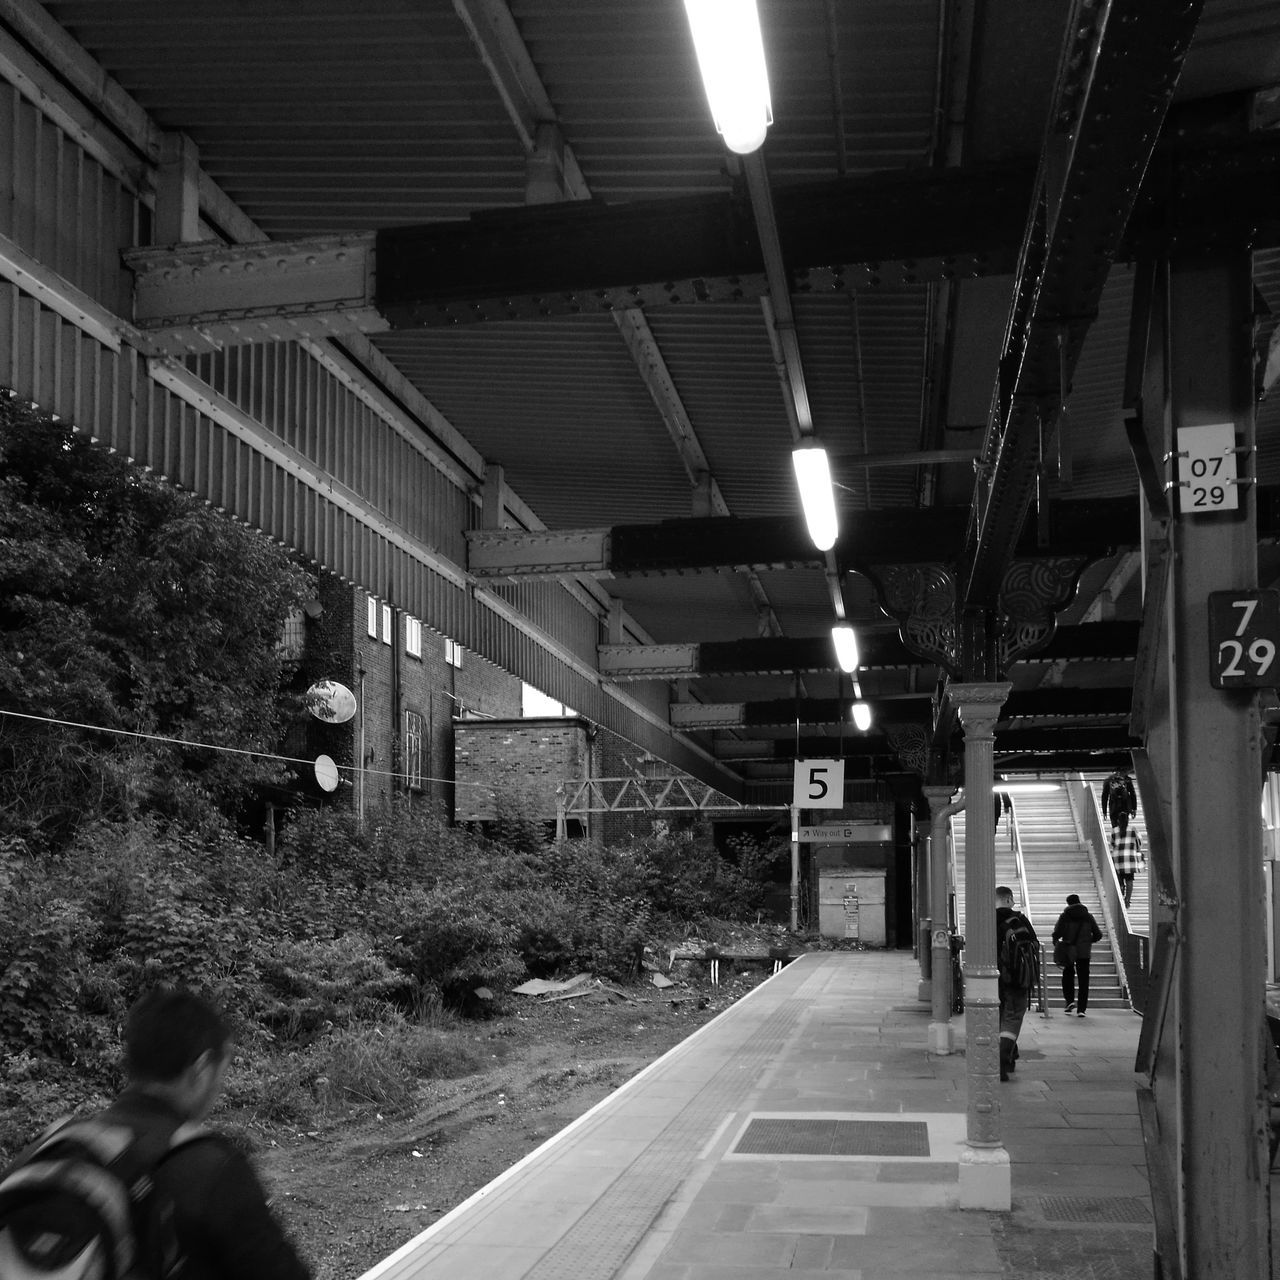
<path fill-rule="evenodd" d="M 726 1112 L 736 1110 L 760 1073 L 790 1038 L 800 998 L 827 977 L 819 970 L 797 988 L 728 1055 L 724 1065 L 698 1091 L 649 1147 L 603 1196 L 526 1272 L 526 1280 L 611 1280 L 644 1239 L 653 1220 L 678 1190 L 698 1153 Z"/>

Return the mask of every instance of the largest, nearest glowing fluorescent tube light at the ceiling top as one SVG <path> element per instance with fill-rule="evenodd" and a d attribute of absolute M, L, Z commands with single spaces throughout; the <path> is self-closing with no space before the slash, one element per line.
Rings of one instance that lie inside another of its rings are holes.
<path fill-rule="evenodd" d="M 685 0 L 698 69 L 724 146 L 758 151 L 773 123 L 755 0 Z"/>

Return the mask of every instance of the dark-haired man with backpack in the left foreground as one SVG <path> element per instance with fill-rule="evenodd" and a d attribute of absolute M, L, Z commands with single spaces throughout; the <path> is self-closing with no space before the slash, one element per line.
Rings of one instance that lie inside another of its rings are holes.
<path fill-rule="evenodd" d="M 308 1280 L 248 1161 L 198 1128 L 229 1057 L 207 1001 L 142 996 L 124 1027 L 120 1096 L 0 1179 L 0 1275 Z"/>

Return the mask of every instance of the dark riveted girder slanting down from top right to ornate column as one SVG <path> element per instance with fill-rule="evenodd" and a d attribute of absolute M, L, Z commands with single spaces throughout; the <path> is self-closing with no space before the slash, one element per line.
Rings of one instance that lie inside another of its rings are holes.
<path fill-rule="evenodd" d="M 974 492 L 966 611 L 995 604 L 1042 433 L 1066 398 L 1199 12 L 1196 0 L 1071 6 L 992 392 L 989 475 Z"/>

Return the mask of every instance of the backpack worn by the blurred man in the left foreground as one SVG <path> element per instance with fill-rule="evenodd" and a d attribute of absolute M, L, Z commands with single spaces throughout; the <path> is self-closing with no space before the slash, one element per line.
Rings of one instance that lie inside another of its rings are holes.
<path fill-rule="evenodd" d="M 63 1123 L 0 1179 L 3 1280 L 165 1280 L 182 1270 L 172 1206 L 152 1174 L 200 1130 L 138 1134 Z"/>

